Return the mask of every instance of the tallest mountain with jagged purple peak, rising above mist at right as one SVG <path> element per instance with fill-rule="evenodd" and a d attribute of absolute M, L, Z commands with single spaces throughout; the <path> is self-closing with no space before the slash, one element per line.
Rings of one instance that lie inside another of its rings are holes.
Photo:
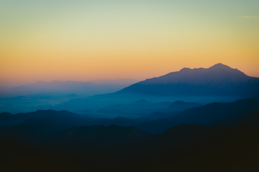
<path fill-rule="evenodd" d="M 146 79 L 116 94 L 157 96 L 254 96 L 259 94 L 259 78 L 218 63 L 210 68 L 183 68 L 178 72 Z"/>

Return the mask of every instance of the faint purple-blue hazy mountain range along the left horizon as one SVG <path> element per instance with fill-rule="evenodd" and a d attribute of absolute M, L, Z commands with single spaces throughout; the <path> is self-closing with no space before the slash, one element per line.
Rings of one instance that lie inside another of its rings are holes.
<path fill-rule="evenodd" d="M 33 84 L 11 88 L 6 92 L 15 95 L 51 93 L 54 95 L 79 94 L 89 96 L 116 92 L 136 82 L 135 79 L 92 80 L 87 82 L 54 80 L 49 83 L 37 81 Z"/>

